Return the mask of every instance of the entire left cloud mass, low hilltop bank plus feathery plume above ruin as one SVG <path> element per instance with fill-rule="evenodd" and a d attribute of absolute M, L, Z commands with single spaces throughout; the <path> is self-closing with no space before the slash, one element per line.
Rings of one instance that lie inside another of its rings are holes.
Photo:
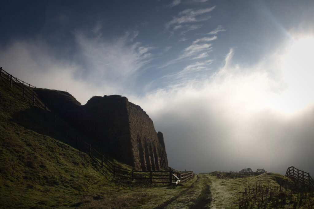
<path fill-rule="evenodd" d="M 97 27 L 99 28 L 99 27 Z M 96 30 L 93 33 L 97 32 Z M 151 60 L 153 47 L 133 42 L 138 32 L 114 41 L 75 33 L 79 60 L 56 58 L 45 41 L 15 41 L 0 52 L 4 70 L 41 88 L 70 92 L 84 104 L 92 96 L 132 91 L 139 70 Z M 81 65 L 84 63 L 84 66 Z"/>

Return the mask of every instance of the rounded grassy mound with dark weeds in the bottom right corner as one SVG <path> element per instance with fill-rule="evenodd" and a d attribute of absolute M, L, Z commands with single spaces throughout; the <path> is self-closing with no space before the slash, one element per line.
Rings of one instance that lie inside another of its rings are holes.
<path fill-rule="evenodd" d="M 239 208 L 313 208 L 313 191 L 302 190 L 277 173 L 252 177 L 239 198 Z"/>

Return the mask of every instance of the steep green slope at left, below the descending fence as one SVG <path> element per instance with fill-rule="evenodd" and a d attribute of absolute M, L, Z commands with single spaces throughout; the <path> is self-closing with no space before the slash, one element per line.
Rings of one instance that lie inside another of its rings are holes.
<path fill-rule="evenodd" d="M 114 186 L 106 170 L 62 143 L 44 111 L 3 78 L 0 102 L 0 207 L 66 207 Z"/>

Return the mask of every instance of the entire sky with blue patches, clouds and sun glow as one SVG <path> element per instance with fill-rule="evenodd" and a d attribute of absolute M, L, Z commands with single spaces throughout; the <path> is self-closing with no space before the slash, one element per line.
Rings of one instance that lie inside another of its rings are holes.
<path fill-rule="evenodd" d="M 314 1 L 1 1 L 0 66 L 82 105 L 118 94 L 196 173 L 314 174 Z"/>

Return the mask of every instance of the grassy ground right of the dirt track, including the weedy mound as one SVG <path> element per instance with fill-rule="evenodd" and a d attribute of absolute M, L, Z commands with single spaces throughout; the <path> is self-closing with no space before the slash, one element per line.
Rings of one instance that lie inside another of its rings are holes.
<path fill-rule="evenodd" d="M 210 175 L 209 208 L 314 208 L 314 191 L 302 190 L 288 177 L 264 173 L 242 178 Z"/>

